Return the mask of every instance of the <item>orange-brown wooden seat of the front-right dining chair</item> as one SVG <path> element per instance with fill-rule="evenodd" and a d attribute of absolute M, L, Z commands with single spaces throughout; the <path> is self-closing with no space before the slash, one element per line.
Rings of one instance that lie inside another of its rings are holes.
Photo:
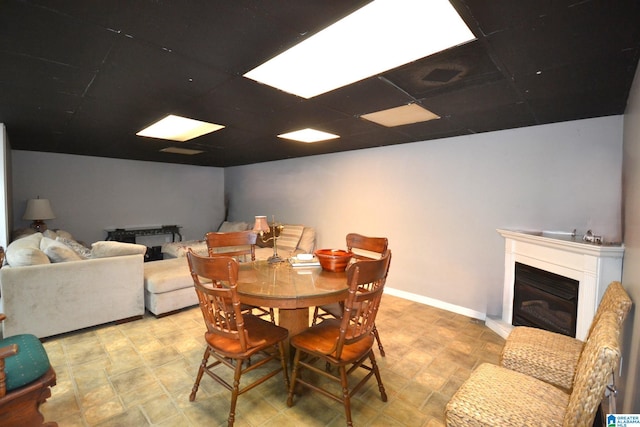
<path fill-rule="evenodd" d="M 340 323 L 338 319 L 324 320 L 319 325 L 294 335 L 291 345 L 306 353 L 324 356 L 337 366 L 354 363 L 371 350 L 374 337 L 369 335 L 354 344 L 345 344 L 340 359 L 331 357 L 330 354 L 335 352 L 336 337 L 340 334 Z"/>

